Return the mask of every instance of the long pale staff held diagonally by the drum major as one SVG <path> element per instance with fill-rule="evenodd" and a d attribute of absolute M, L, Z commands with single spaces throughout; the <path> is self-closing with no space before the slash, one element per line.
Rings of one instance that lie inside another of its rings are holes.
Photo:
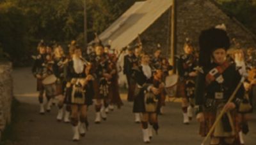
<path fill-rule="evenodd" d="M 244 79 L 245 79 L 244 77 L 241 78 L 241 81 L 240 81 L 239 84 L 236 86 L 236 89 L 234 90 L 234 92 L 232 93 L 231 97 L 228 99 L 228 102 L 227 102 L 226 104 L 230 103 L 230 102 L 234 99 L 234 97 L 235 97 L 237 91 L 239 90 L 240 86 L 243 84 Z M 216 118 L 215 122 L 213 123 L 211 129 L 209 130 L 208 134 L 207 134 L 206 137 L 204 138 L 204 141 L 202 142 L 201 145 L 204 145 L 204 144 L 205 144 L 205 142 L 207 141 L 207 139 L 208 139 L 208 138 L 210 137 L 210 135 L 212 134 L 214 128 L 215 128 L 216 125 L 217 125 L 217 123 L 221 120 L 221 117 L 223 116 L 224 113 L 225 113 L 225 107 L 223 107 L 223 109 L 221 110 L 219 116 Z"/>

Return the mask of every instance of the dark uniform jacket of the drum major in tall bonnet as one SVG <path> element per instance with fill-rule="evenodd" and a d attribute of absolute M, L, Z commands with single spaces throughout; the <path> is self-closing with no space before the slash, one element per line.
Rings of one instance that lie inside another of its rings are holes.
<path fill-rule="evenodd" d="M 203 71 L 199 72 L 196 78 L 195 103 L 200 107 L 214 107 L 214 104 L 209 104 L 211 103 L 209 100 L 216 100 L 216 92 L 223 92 L 223 99 L 221 100 L 227 101 L 236 89 L 239 81 L 241 81 L 241 74 L 239 74 L 236 66 L 234 64 L 230 64 L 230 66 L 228 66 L 227 69 L 225 69 L 225 71 L 222 73 L 223 83 L 218 83 L 216 80 L 214 80 L 207 85 L 205 81 L 206 76 L 209 71 L 214 69 L 216 66 L 218 66 L 218 64 L 212 63 L 207 68 L 203 68 Z M 244 87 L 242 85 L 236 93 L 235 99 L 233 100 L 237 106 L 239 101 L 243 99 L 243 95 Z"/>

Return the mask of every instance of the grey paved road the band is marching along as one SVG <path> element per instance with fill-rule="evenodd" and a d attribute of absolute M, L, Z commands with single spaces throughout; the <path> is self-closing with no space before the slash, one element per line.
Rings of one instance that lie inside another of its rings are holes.
<path fill-rule="evenodd" d="M 133 121 L 132 103 L 125 102 L 121 109 L 108 114 L 108 120 L 99 125 L 93 123 L 95 117 L 93 107 L 90 107 L 89 132 L 78 143 L 72 142 L 71 125 L 56 121 L 57 108 L 44 116 L 38 114 L 38 102 L 35 92 L 35 79 L 31 77 L 29 68 L 13 71 L 14 90 L 20 105 L 15 123 L 15 144 L 38 145 L 68 145 L 68 144 L 144 144 L 141 125 Z M 202 137 L 198 135 L 198 123 L 195 120 L 190 125 L 182 124 L 182 113 L 179 103 L 167 102 L 164 115 L 159 116 L 159 135 L 154 135 L 151 144 L 164 145 L 198 145 Z M 255 113 L 254 113 L 255 114 Z M 245 137 L 247 144 L 256 144 L 256 115 L 250 121 L 250 133 Z"/>

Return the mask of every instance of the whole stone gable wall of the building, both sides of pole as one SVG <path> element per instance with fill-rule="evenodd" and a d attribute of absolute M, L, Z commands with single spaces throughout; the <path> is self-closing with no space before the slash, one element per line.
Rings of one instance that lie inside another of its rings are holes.
<path fill-rule="evenodd" d="M 177 1 L 177 53 L 183 53 L 186 38 L 198 48 L 200 32 L 214 25 L 225 24 L 230 38 L 236 38 L 244 48 L 256 47 L 256 37 L 235 18 L 228 17 L 214 0 Z M 157 43 L 163 54 L 170 56 L 170 10 L 167 10 L 147 31 L 141 34 L 143 49 L 152 53 Z M 134 41 L 136 43 L 136 40 Z"/>

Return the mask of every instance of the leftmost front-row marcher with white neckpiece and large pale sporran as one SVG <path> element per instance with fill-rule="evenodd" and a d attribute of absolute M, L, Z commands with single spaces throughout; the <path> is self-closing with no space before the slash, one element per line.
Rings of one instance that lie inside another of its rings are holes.
<path fill-rule="evenodd" d="M 84 136 L 88 127 L 87 108 L 92 104 L 93 96 L 90 69 L 91 66 L 81 58 L 81 48 L 77 46 L 67 68 L 67 100 L 71 106 L 73 141 L 79 141 L 80 135 Z"/>

